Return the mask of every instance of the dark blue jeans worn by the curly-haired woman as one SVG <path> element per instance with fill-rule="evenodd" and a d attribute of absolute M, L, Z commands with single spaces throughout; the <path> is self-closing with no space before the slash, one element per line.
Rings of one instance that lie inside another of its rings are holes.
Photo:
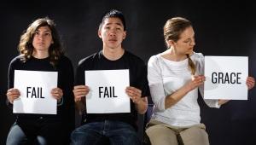
<path fill-rule="evenodd" d="M 63 145 L 68 144 L 67 131 L 55 120 L 22 120 L 11 127 L 6 145 Z"/>

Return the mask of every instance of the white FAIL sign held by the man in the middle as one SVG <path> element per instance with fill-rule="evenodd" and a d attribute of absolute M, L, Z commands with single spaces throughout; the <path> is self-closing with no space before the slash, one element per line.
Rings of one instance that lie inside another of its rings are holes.
<path fill-rule="evenodd" d="M 130 85 L 129 70 L 85 71 L 87 113 L 130 113 L 130 98 L 125 88 Z"/>

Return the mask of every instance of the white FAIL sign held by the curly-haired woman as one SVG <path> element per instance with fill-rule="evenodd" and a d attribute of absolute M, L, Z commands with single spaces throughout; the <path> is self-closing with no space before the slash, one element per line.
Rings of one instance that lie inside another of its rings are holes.
<path fill-rule="evenodd" d="M 14 113 L 56 114 L 57 101 L 50 91 L 57 87 L 57 72 L 15 70 L 15 89 L 20 98 L 14 101 Z"/>

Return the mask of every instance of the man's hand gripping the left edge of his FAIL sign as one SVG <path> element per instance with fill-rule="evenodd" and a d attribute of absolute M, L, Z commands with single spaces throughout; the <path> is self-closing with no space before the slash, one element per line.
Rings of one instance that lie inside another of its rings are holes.
<path fill-rule="evenodd" d="M 87 96 L 90 89 L 86 85 L 76 85 L 73 87 L 73 95 L 74 95 L 74 101 L 79 102 L 81 101 L 81 98 L 84 96 Z"/>

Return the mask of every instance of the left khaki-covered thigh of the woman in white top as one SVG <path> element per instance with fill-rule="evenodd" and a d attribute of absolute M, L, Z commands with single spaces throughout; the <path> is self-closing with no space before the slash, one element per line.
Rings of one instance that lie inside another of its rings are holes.
<path fill-rule="evenodd" d="M 146 134 L 152 145 L 177 145 L 175 131 L 164 125 L 152 125 L 146 130 Z"/>

